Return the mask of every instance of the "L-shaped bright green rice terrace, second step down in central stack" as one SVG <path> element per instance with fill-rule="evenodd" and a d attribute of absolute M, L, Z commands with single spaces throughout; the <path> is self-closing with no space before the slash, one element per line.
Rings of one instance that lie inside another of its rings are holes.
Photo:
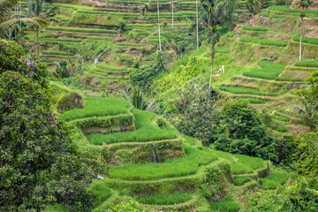
<path fill-rule="evenodd" d="M 151 140 L 169 140 L 178 136 L 177 130 L 170 125 L 160 128 L 155 123 L 157 115 L 145 110 L 134 110 L 136 131 L 112 134 L 89 134 L 87 139 L 95 145 L 118 142 L 143 142 Z"/>

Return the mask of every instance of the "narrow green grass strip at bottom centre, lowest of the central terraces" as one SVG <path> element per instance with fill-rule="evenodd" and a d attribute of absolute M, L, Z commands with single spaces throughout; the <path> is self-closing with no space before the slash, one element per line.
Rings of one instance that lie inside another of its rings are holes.
<path fill-rule="evenodd" d="M 140 203 L 149 205 L 173 205 L 185 201 L 190 201 L 191 198 L 192 194 L 190 193 L 168 193 L 163 195 L 145 195 L 136 197 L 137 201 L 139 201 Z"/>

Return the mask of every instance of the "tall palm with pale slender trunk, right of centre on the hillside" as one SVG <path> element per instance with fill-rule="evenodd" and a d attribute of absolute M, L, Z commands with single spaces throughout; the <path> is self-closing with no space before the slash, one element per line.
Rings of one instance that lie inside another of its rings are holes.
<path fill-rule="evenodd" d="M 221 19 L 223 19 L 226 10 L 226 1 L 217 2 L 217 4 L 210 4 L 205 2 L 201 5 L 203 11 L 203 25 L 208 28 L 208 42 L 212 43 L 211 47 L 211 72 L 208 88 L 211 88 L 213 61 L 216 55 L 216 42 L 219 41 L 221 34 L 224 31 L 223 27 L 219 27 Z"/>

